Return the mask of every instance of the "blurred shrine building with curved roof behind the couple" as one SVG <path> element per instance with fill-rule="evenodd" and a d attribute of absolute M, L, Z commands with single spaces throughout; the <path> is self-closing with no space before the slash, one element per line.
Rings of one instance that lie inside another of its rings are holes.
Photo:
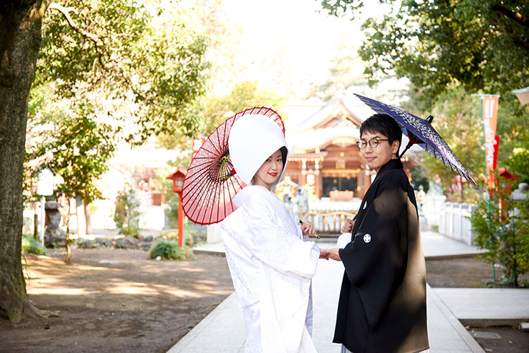
<path fill-rule="evenodd" d="M 356 142 L 360 140 L 360 125 L 375 113 L 360 101 L 344 97 L 334 97 L 324 106 L 312 106 L 312 114 L 304 108 L 289 114 L 285 121 L 290 150 L 285 179 L 311 189 L 320 199 L 362 198 L 375 171 L 363 162 Z M 403 136 L 402 144 L 407 142 Z M 408 157 L 402 160 L 409 177 L 411 161 Z"/>

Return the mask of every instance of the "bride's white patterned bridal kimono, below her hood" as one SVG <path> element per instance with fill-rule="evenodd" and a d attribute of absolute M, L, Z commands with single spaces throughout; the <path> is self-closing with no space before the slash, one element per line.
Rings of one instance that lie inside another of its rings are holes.
<path fill-rule="evenodd" d="M 238 209 L 221 231 L 244 311 L 245 353 L 316 352 L 310 280 L 320 249 L 304 241 L 298 217 L 265 187 L 247 186 L 233 203 Z"/>

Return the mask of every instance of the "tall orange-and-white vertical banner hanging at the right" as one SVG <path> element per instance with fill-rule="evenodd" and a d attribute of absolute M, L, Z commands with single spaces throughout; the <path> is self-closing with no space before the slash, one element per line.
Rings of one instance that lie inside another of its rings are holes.
<path fill-rule="evenodd" d="M 481 99 L 483 111 L 483 133 L 485 140 L 485 164 L 487 166 L 487 184 L 494 188 L 494 145 L 496 144 L 496 124 L 498 119 L 498 97 L 483 96 Z"/>

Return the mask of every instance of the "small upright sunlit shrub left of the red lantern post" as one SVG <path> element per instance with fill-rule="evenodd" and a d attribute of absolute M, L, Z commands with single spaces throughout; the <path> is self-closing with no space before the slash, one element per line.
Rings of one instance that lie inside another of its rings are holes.
<path fill-rule="evenodd" d="M 116 227 L 121 234 L 130 235 L 130 237 L 138 237 L 140 234 L 140 227 L 138 226 L 139 206 L 140 201 L 135 197 L 133 189 L 118 193 L 114 222 L 116 222 Z"/>

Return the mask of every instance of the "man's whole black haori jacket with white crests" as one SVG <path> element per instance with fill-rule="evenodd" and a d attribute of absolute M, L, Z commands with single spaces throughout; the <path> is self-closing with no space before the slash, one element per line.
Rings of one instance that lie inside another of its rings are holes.
<path fill-rule="evenodd" d="M 380 168 L 365 193 L 345 267 L 333 342 L 353 353 L 427 349 L 426 270 L 417 203 L 402 163 Z"/>

